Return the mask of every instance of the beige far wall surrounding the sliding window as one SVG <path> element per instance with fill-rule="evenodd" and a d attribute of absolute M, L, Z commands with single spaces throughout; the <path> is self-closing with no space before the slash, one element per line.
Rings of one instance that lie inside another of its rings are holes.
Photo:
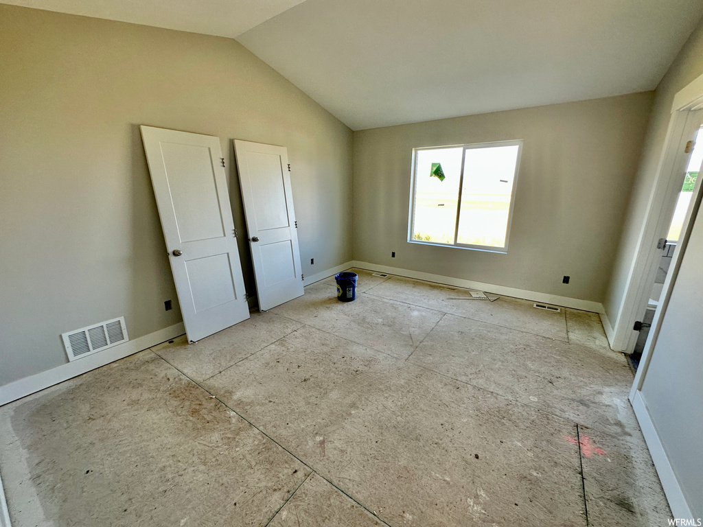
<path fill-rule="evenodd" d="M 354 259 L 602 301 L 652 97 L 354 132 Z M 408 243 L 413 148 L 508 139 L 524 139 L 508 254 Z"/>

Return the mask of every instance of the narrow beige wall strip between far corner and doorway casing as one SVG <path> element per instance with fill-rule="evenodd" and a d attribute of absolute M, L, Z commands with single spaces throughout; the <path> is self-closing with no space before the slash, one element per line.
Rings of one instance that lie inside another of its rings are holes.
<path fill-rule="evenodd" d="M 669 119 L 671 119 L 673 96 L 701 74 L 703 74 L 703 22 L 700 22 L 692 32 L 681 52 L 669 67 L 669 71 L 664 75 L 662 82 L 657 86 L 645 147 L 638 163 L 639 168 L 633 186 L 633 194 L 628 205 L 612 280 L 604 303 L 605 312 L 613 326 L 619 323 L 621 304 L 630 286 L 630 273 L 640 245 L 642 227 L 654 188 L 654 178 L 657 174 L 657 164 L 659 164 L 664 150 L 666 130 L 669 126 Z M 663 233 L 649 234 L 652 240 L 656 240 L 665 237 L 666 230 Z"/>

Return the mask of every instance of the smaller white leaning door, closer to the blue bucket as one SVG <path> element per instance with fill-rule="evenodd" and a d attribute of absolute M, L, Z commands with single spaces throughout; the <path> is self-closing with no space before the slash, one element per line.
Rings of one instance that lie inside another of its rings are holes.
<path fill-rule="evenodd" d="M 284 146 L 238 140 L 234 151 L 259 309 L 266 311 L 304 292 L 288 152 Z"/>

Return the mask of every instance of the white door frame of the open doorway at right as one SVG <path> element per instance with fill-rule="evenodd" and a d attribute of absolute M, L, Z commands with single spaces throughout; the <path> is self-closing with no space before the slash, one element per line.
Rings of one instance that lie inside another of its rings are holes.
<path fill-rule="evenodd" d="M 678 91 L 673 98 L 664 149 L 659 157 L 647 215 L 640 229 L 636 258 L 628 273 L 627 290 L 614 319 L 614 325 L 611 325 L 605 315 L 601 315 L 610 347 L 615 351 L 631 353 L 636 344 L 638 332 L 632 328 L 649 303 L 661 256 L 661 249 L 657 249 L 657 241 L 659 238 L 665 238 L 669 230 L 671 216 L 676 208 L 676 196 L 681 190 L 681 174 L 685 171 L 685 166 L 682 168 L 682 165 L 688 161 L 688 155 L 681 150 L 681 141 L 691 126 L 688 122 L 691 112 L 701 108 L 703 75 Z"/>

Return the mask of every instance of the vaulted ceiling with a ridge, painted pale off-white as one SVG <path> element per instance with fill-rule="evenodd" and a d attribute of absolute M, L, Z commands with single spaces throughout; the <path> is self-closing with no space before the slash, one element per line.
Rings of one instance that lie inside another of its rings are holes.
<path fill-rule="evenodd" d="M 654 89 L 703 0 L 2 0 L 236 38 L 352 129 Z"/>

